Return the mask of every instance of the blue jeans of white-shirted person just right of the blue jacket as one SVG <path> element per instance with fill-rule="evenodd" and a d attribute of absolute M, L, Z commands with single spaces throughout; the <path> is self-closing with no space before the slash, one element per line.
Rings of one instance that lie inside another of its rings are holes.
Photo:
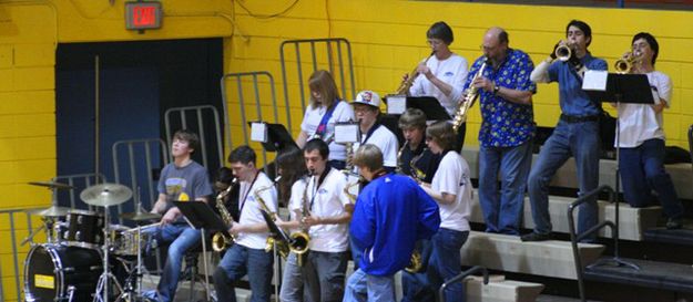
<path fill-rule="evenodd" d="M 455 278 L 462 272 L 459 251 L 467 241 L 469 231 L 456 231 L 450 229 L 439 229 L 431 242 L 434 251 L 428 262 L 428 280 L 434 287 L 436 294 L 444 282 Z M 461 282 L 450 284 L 446 288 L 445 300 L 447 302 L 465 301 L 466 293 Z"/>

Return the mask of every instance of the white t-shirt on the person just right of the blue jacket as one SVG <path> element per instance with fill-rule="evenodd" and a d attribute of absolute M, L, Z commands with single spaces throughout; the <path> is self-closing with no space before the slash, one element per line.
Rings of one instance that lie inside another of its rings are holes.
<path fill-rule="evenodd" d="M 457 152 L 448 152 L 440 159 L 440 166 L 438 166 L 431 181 L 431 189 L 457 196 L 453 204 L 438 204 L 440 207 L 440 227 L 468 231 L 469 214 L 471 212 L 471 179 L 469 178 L 467 160 Z"/>

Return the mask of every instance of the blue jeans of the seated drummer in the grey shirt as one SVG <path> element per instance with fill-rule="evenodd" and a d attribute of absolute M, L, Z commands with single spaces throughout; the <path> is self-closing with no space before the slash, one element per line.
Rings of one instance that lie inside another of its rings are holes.
<path fill-rule="evenodd" d="M 154 230 L 155 237 L 162 242 L 171 242 L 169 257 L 161 272 L 161 279 L 156 287 L 156 293 L 161 302 L 173 301 L 175 290 L 179 287 L 183 257 L 187 250 L 197 247 L 202 242 L 200 230 L 188 225 L 173 223 Z"/>

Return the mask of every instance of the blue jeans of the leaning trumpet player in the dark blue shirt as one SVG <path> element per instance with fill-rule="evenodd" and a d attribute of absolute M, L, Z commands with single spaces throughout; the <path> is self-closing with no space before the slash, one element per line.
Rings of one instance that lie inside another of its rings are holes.
<path fill-rule="evenodd" d="M 534 232 L 552 230 L 549 215 L 549 184 L 556 171 L 573 156 L 578 168 L 579 192 L 583 195 L 599 186 L 599 155 L 601 139 L 599 122 L 568 123 L 559 121 L 553 134 L 541 147 L 539 158 L 529 174 L 529 199 L 532 205 Z M 578 233 L 597 225 L 597 196 L 580 206 Z M 593 240 L 594 236 L 587 241 Z"/>

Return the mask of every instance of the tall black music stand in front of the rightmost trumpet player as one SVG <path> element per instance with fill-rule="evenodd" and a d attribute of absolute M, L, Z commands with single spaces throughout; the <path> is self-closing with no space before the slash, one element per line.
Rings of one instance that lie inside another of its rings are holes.
<path fill-rule="evenodd" d="M 645 74 L 620 74 L 620 73 L 609 73 L 607 75 L 607 83 L 603 90 L 594 91 L 594 90 L 585 90 L 585 93 L 593 101 L 598 102 L 611 102 L 616 104 L 616 165 L 615 165 L 615 196 L 614 196 L 614 223 L 613 228 L 613 237 L 614 237 L 614 246 L 613 246 L 613 259 L 608 259 L 604 261 L 598 261 L 592 265 L 601 265 L 607 261 L 613 261 L 618 267 L 625 265 L 630 267 L 634 270 L 640 270 L 634 263 L 624 261 L 619 257 L 619 190 L 620 190 L 620 150 L 619 146 L 621 142 L 620 137 L 620 116 L 618 115 L 621 103 L 626 104 L 654 104 L 654 98 L 652 97 L 652 91 L 650 87 L 650 82 L 648 81 L 648 75 Z"/>

